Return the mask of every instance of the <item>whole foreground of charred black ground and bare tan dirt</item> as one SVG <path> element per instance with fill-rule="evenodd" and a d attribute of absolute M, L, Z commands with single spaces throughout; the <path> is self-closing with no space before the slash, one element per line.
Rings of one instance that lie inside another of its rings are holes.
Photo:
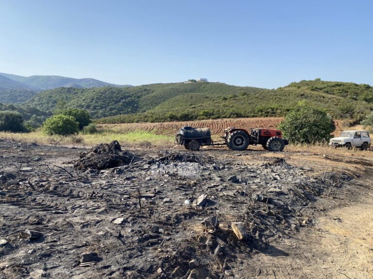
<path fill-rule="evenodd" d="M 0 278 L 372 278 L 371 161 L 113 146 L 0 140 Z"/>

